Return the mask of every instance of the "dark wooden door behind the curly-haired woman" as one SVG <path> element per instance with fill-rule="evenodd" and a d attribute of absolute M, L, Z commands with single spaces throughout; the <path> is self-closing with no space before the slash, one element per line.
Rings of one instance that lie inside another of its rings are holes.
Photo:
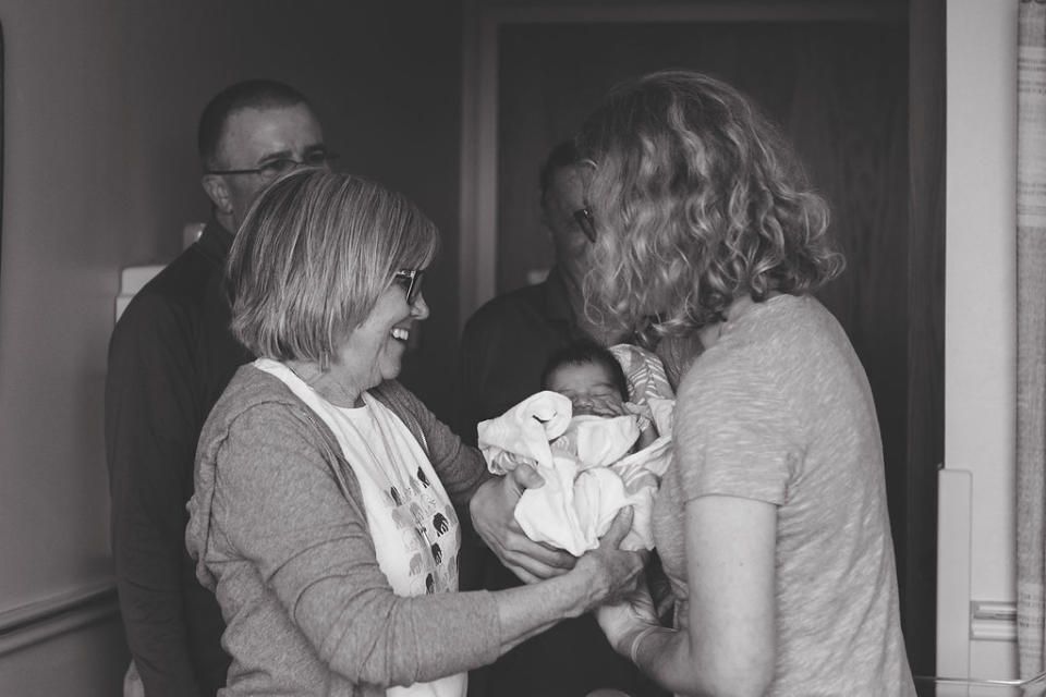
<path fill-rule="evenodd" d="M 942 35 L 944 17 L 937 0 L 919 5 L 859 21 L 503 24 L 496 290 L 523 285 L 550 264 L 538 167 L 615 83 L 688 68 L 751 95 L 832 205 L 849 266 L 820 297 L 850 334 L 875 394 L 909 656 L 913 672 L 931 675 L 944 441 L 944 228 L 934 197 L 942 182 L 932 179 L 944 150 L 933 124 L 944 114 L 935 111 L 942 105 L 935 45 L 912 32 Z M 942 41 L 937 48 L 942 54 Z"/>

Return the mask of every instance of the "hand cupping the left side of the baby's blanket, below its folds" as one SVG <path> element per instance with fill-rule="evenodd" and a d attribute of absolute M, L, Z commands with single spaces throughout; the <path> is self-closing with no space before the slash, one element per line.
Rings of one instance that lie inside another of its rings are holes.
<path fill-rule="evenodd" d="M 484 482 L 469 502 L 476 533 L 506 568 L 528 584 L 564 574 L 576 562 L 561 549 L 535 542 L 515 522 L 515 504 L 523 490 L 544 485 L 533 467 L 520 464 L 506 476 Z"/>

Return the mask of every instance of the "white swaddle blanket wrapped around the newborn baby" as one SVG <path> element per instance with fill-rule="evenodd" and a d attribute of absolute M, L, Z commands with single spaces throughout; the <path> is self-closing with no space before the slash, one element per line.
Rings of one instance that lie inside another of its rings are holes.
<path fill-rule="evenodd" d="M 479 424 L 479 450 L 490 472 L 503 475 L 522 458 L 545 479 L 515 506 L 515 519 L 531 539 L 581 555 L 598 547 L 618 511 L 631 504 L 632 529 L 621 547 L 653 549 L 650 512 L 671 457 L 674 401 L 654 398 L 647 407 L 660 435 L 632 454 L 637 416 L 572 417 L 570 400 L 556 392 L 538 392 Z"/>

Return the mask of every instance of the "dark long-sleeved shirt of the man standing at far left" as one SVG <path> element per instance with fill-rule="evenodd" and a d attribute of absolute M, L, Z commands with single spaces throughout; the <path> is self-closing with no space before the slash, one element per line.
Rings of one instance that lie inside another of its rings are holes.
<path fill-rule="evenodd" d="M 231 245 L 211 220 L 135 295 L 109 343 L 112 553 L 127 644 L 149 697 L 210 697 L 229 668 L 221 611 L 185 549 L 185 503 L 204 420 L 252 359 L 229 331 L 221 290 Z"/>

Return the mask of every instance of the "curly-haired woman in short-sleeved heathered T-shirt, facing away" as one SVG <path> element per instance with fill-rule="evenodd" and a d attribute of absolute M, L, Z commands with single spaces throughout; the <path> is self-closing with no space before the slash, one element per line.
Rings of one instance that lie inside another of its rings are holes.
<path fill-rule="evenodd" d="M 685 695 L 914 695 L 875 405 L 811 295 L 843 267 L 775 127 L 692 72 L 622 84 L 577 137 L 597 235 L 586 297 L 681 375 L 653 529 L 676 596 L 597 611 Z M 649 320 L 647 318 L 655 317 Z"/>

